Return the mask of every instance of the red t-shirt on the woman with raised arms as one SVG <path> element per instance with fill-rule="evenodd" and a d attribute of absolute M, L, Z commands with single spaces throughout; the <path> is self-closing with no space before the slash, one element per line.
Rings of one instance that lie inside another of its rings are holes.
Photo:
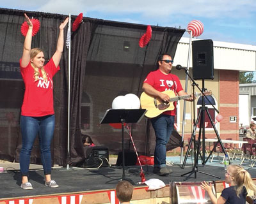
<path fill-rule="evenodd" d="M 21 115 L 40 117 L 54 114 L 52 77 L 60 70 L 60 66 L 56 68 L 53 60 L 50 59 L 44 69 L 47 73 L 47 82 L 42 78 L 41 69 L 39 69 L 40 79 L 35 82 L 34 69 L 30 62 L 26 68 L 22 68 L 20 65 L 20 72 L 25 84 Z"/>

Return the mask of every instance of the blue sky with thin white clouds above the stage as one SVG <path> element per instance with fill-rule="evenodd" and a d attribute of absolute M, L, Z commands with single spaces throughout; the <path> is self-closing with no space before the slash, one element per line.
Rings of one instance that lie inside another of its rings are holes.
<path fill-rule="evenodd" d="M 1 8 L 40 11 L 187 29 L 204 24 L 199 39 L 256 46 L 255 0 L 1 0 Z M 188 33 L 183 35 L 189 37 Z"/>

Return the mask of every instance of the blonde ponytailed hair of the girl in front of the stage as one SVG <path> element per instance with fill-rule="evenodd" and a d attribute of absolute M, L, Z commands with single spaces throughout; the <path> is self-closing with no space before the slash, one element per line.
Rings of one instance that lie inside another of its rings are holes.
<path fill-rule="evenodd" d="M 232 164 L 228 166 L 228 169 L 230 170 L 232 177 L 234 177 L 234 182 L 236 184 L 235 189 L 238 197 L 239 194 L 241 194 L 243 187 L 245 187 L 247 191 L 250 189 L 254 193 L 256 192 L 256 186 L 250 173 L 244 170 L 242 166 Z"/>

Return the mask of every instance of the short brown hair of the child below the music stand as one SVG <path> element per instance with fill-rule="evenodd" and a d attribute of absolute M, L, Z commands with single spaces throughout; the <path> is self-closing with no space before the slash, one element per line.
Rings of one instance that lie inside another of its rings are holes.
<path fill-rule="evenodd" d="M 116 184 L 116 197 L 120 203 L 129 202 L 132 199 L 133 186 L 127 180 L 122 180 Z"/>

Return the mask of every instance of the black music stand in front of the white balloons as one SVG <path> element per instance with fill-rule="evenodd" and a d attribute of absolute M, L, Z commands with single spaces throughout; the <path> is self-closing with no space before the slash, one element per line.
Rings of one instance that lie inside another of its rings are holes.
<path fill-rule="evenodd" d="M 123 176 L 121 180 L 128 180 L 133 183 L 129 179 L 125 179 L 125 159 L 124 159 L 124 123 L 137 123 L 140 122 L 142 117 L 147 112 L 146 109 L 108 109 L 106 113 L 100 120 L 100 124 L 107 123 L 122 123 L 122 166 L 123 166 Z"/>

